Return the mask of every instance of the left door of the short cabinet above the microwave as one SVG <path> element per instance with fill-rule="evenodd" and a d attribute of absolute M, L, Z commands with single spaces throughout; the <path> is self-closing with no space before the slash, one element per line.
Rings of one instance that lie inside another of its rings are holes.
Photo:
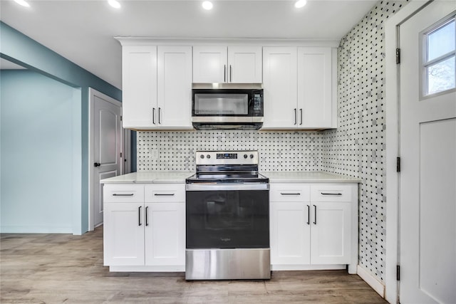
<path fill-rule="evenodd" d="M 193 82 L 226 83 L 227 46 L 193 47 Z"/>

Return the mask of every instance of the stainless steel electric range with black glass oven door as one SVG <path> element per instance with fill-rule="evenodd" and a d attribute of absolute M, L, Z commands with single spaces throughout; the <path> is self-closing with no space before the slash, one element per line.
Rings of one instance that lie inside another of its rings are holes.
<path fill-rule="evenodd" d="M 269 179 L 258 151 L 198 151 L 186 180 L 187 280 L 269 279 Z"/>

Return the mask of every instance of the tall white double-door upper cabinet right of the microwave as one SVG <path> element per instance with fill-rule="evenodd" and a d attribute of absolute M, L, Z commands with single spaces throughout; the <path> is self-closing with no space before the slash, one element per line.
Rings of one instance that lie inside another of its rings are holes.
<path fill-rule="evenodd" d="M 263 48 L 263 129 L 336 127 L 333 57 L 329 47 Z"/>

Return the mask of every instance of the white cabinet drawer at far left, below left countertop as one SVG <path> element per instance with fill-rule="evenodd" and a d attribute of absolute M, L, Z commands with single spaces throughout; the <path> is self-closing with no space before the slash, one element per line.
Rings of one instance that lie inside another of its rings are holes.
<path fill-rule="evenodd" d="M 144 185 L 142 184 L 105 184 L 103 186 L 105 203 L 143 203 Z"/>

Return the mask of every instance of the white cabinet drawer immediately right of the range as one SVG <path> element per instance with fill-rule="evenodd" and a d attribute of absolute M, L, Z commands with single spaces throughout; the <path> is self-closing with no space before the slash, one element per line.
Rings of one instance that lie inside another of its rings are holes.
<path fill-rule="evenodd" d="M 309 201 L 310 187 L 307 184 L 270 184 L 271 201 Z"/>

